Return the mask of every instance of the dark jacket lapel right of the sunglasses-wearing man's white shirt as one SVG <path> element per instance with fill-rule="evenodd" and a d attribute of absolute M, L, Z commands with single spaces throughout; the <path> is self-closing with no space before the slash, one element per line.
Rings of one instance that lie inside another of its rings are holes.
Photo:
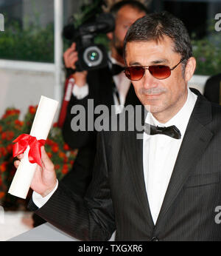
<path fill-rule="evenodd" d="M 169 181 L 169 186 L 166 190 L 156 226 L 161 226 L 160 223 L 163 221 L 166 211 L 173 201 L 175 201 L 183 184 L 186 182 L 187 178 L 189 178 L 192 168 L 197 164 L 198 159 L 211 140 L 213 133 L 205 127 L 209 122 L 211 122 L 211 104 L 201 95 L 198 95 L 197 102 L 183 137 L 183 142 L 180 146 L 178 158 Z"/>

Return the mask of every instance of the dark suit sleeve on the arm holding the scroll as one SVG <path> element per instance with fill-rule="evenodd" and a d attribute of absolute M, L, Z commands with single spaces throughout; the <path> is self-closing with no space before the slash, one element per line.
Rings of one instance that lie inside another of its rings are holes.
<path fill-rule="evenodd" d="M 29 206 L 32 205 L 30 202 Z M 74 195 L 60 182 L 49 201 L 35 213 L 79 240 L 111 238 L 116 228 L 102 132 L 97 136 L 93 179 L 85 198 Z"/>

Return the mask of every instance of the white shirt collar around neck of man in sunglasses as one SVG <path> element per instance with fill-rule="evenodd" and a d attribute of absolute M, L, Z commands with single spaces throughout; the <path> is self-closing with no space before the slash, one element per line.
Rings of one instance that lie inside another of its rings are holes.
<path fill-rule="evenodd" d="M 169 127 L 175 125 L 180 130 L 181 138 L 183 138 L 190 115 L 192 114 L 192 110 L 194 109 L 194 105 L 197 101 L 197 95 L 195 95 L 194 92 L 192 92 L 189 88 L 187 90 L 188 95 L 185 104 L 175 116 L 169 119 L 169 121 L 167 121 L 165 124 L 162 124 L 157 119 L 155 119 L 151 113 L 148 113 L 145 119 L 145 123 L 158 127 Z"/>

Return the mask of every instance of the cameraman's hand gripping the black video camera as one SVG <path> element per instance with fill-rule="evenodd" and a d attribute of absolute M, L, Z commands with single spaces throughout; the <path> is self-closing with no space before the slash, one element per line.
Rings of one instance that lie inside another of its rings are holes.
<path fill-rule="evenodd" d="M 63 58 L 65 61 L 65 65 L 68 68 L 71 68 L 73 70 L 76 69 L 75 63 L 78 60 L 78 55 L 76 51 L 76 43 L 71 44 L 71 47 L 69 47 L 64 53 Z M 78 87 L 83 87 L 86 84 L 86 77 L 88 72 L 82 71 L 82 72 L 75 72 L 73 76 L 75 80 L 75 84 L 77 84 Z"/>

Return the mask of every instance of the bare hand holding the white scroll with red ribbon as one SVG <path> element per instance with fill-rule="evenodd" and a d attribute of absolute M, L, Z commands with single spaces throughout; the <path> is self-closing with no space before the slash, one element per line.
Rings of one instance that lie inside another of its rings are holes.
<path fill-rule="evenodd" d="M 18 155 L 17 158 L 21 160 L 24 154 Z M 18 168 L 20 161 L 14 162 L 15 167 Z M 35 175 L 32 179 L 31 188 L 40 194 L 42 197 L 48 195 L 55 188 L 57 184 L 57 178 L 55 173 L 54 164 L 47 155 L 44 146 L 41 147 L 41 166 L 37 166 Z"/>

